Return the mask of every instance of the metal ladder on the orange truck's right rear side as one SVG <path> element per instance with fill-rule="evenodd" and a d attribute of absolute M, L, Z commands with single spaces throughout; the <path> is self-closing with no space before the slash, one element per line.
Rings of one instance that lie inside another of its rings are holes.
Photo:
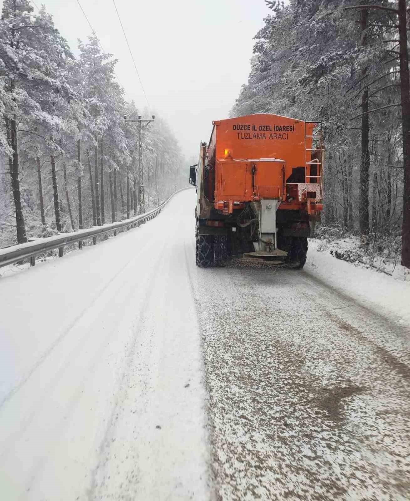
<path fill-rule="evenodd" d="M 312 133 L 307 134 L 306 124 L 313 124 Z M 314 134 L 315 129 L 319 129 L 319 134 Z M 318 140 L 318 141 L 316 141 Z M 319 144 L 315 144 L 318 142 Z M 307 146 L 311 146 L 308 148 Z M 318 153 L 318 158 L 313 158 L 314 153 Z M 306 182 L 306 200 L 308 214 L 316 214 L 316 203 L 322 200 L 322 165 L 323 165 L 323 134 L 322 122 L 308 121 L 305 122 L 305 182 Z M 316 173 L 312 175 L 312 167 L 316 167 Z M 312 180 L 314 180 L 312 182 Z M 316 195 L 313 196 L 312 191 L 309 191 L 308 184 L 314 184 Z M 319 190 L 319 193 L 317 193 Z"/>

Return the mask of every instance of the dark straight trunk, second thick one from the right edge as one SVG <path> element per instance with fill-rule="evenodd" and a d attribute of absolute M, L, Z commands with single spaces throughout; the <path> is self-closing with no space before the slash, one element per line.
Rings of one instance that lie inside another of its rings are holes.
<path fill-rule="evenodd" d="M 361 45 L 367 45 L 367 18 L 368 10 L 360 11 Z M 362 69 L 362 77 L 365 77 L 367 68 Z M 360 233 L 369 231 L 369 91 L 365 89 L 361 96 L 361 163 L 360 163 L 360 195 L 359 195 L 359 226 Z"/>

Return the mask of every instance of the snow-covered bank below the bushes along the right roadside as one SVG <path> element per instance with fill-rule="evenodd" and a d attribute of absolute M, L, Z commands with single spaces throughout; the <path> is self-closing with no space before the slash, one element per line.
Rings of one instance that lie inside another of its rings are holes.
<path fill-rule="evenodd" d="M 405 268 L 396 266 L 392 276 L 377 273 L 374 268 L 366 268 L 361 263 L 355 265 L 336 259 L 334 248 L 334 242 L 332 245 L 310 239 L 304 271 L 354 297 L 366 307 L 379 313 L 382 310 L 399 323 L 410 325 L 410 275 Z M 333 255 L 330 254 L 332 249 Z"/>

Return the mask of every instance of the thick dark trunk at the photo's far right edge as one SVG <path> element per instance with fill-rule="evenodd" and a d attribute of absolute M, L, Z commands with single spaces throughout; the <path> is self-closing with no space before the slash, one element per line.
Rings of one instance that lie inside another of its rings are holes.
<path fill-rule="evenodd" d="M 410 268 L 410 80 L 406 0 L 398 0 L 398 34 L 400 52 L 401 125 L 403 136 L 403 224 L 401 231 L 401 264 Z"/>

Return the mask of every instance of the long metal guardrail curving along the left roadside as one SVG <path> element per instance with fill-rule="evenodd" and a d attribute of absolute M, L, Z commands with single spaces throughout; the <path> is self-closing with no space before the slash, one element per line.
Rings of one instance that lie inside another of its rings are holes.
<path fill-rule="evenodd" d="M 120 229 L 125 229 L 128 227 L 136 227 L 140 224 L 153 219 L 157 216 L 169 200 L 177 193 L 184 191 L 186 189 L 191 189 L 191 187 L 182 188 L 178 191 L 172 193 L 172 195 L 165 200 L 159 207 L 146 212 L 145 214 L 140 214 L 138 216 L 130 217 L 129 219 L 124 219 L 122 221 L 107 223 L 103 226 L 93 226 L 92 228 L 79 229 L 78 231 L 72 231 L 70 233 L 61 233 L 59 235 L 49 236 L 47 238 L 39 238 L 31 242 L 21 243 L 19 245 L 13 245 L 11 247 L 6 247 L 0 249 L 0 267 L 17 263 L 25 259 L 30 258 L 31 266 L 36 264 L 36 256 L 47 252 L 48 250 L 59 249 L 60 258 L 64 255 L 64 247 L 71 245 L 73 243 L 82 242 L 87 238 L 93 238 L 93 243 L 97 243 L 97 236 L 104 235 L 110 231 L 114 232 L 114 236 Z M 79 247 L 82 244 L 79 243 Z"/>

